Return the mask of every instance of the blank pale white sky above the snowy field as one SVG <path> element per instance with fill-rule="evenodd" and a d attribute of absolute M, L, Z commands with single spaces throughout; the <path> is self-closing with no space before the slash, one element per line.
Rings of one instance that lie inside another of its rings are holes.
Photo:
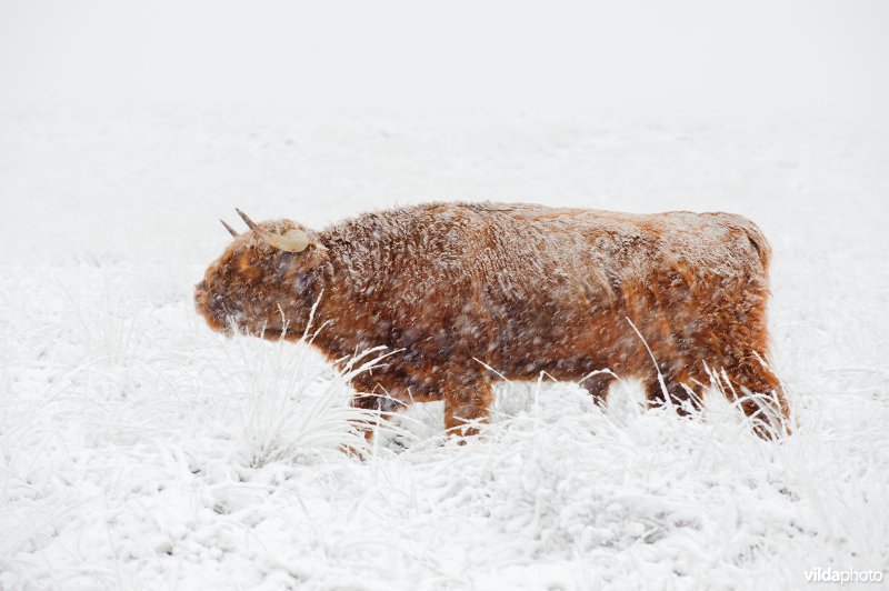
<path fill-rule="evenodd" d="M 0 106 L 882 113 L 889 2 L 0 0 Z"/>

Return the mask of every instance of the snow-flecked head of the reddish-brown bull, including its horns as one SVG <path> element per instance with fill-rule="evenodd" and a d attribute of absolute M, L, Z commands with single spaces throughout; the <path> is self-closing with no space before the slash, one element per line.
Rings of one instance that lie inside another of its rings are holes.
<path fill-rule="evenodd" d="M 194 304 L 213 330 L 268 339 L 299 338 L 319 296 L 318 276 L 327 250 L 306 228 L 290 221 L 253 222 L 249 231 L 222 226 L 234 240 L 207 269 L 194 289 Z"/>

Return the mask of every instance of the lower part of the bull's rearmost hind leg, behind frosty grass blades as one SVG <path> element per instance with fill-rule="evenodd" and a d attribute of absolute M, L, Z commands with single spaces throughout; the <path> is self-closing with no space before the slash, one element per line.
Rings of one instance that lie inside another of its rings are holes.
<path fill-rule="evenodd" d="M 729 382 L 722 384 L 726 395 L 740 400 L 741 410 L 753 423 L 756 434 L 775 439 L 790 433 L 790 405 L 781 382 L 758 358 L 726 368 L 722 378 L 728 378 Z"/>

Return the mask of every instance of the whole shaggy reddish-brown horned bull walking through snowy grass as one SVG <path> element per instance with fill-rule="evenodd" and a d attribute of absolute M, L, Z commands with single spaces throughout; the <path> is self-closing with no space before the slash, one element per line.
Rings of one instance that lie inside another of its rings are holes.
<path fill-rule="evenodd" d="M 709 367 L 732 395 L 766 394 L 741 403 L 749 417 L 788 417 L 762 361 L 770 249 L 739 216 L 431 203 L 320 232 L 241 216 L 250 231 L 227 226 L 198 310 L 216 330 L 296 340 L 318 301 L 328 359 L 400 350 L 354 378 L 357 405 L 443 399 L 453 430 L 487 415 L 498 374 L 541 371 L 597 402 L 619 375 L 642 379 L 651 403 L 695 404 Z"/>

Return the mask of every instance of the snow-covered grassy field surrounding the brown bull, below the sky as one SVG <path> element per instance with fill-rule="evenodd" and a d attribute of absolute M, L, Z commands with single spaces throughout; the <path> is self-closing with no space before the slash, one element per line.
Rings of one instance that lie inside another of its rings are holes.
<path fill-rule="evenodd" d="M 138 121 L 2 120 L 0 589 L 791 589 L 889 565 L 881 128 Z M 440 403 L 367 443 L 314 352 L 193 312 L 233 206 L 320 226 L 407 194 L 749 214 L 799 428 L 543 381 L 498 387 L 463 445 Z"/>

